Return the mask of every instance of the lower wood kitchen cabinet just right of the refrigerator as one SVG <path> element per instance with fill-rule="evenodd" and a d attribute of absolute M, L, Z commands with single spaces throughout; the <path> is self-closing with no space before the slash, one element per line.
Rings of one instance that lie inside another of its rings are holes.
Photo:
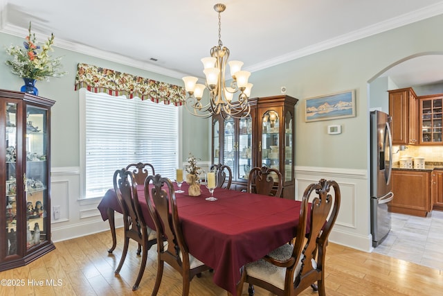
<path fill-rule="evenodd" d="M 431 211 L 431 171 L 393 170 L 391 212 L 426 217 Z"/>

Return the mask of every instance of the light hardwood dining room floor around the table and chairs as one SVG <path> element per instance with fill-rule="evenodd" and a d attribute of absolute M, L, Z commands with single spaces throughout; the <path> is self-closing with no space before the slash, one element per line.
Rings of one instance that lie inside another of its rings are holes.
<path fill-rule="evenodd" d="M 136 256 L 136 243 L 129 252 L 120 275 L 114 275 L 123 247 L 122 229 L 117 229 L 118 245 L 114 254 L 110 232 L 55 243 L 56 249 L 40 259 L 13 270 L 0 272 L 1 279 L 23 280 L 24 286 L 2 286 L 0 295 L 150 295 L 156 275 L 156 252 L 148 252 L 148 261 L 140 288 L 132 285 L 141 259 Z M 394 259 L 383 254 L 365 253 L 329 243 L 326 261 L 327 295 L 442 295 L 443 271 Z M 53 286 L 46 280 L 53 280 Z M 33 282 L 34 280 L 34 282 Z M 43 286 L 36 286 L 43 281 Z M 3 282 L 2 282 L 3 283 Z M 60 286 L 55 286 L 60 284 Z M 247 285 L 244 286 L 247 295 Z M 181 277 L 165 265 L 159 295 L 181 295 Z M 204 272 L 190 284 L 190 295 L 226 295 L 212 281 L 212 273 Z M 255 289 L 255 295 L 271 295 Z M 302 295 L 318 295 L 307 288 Z"/>

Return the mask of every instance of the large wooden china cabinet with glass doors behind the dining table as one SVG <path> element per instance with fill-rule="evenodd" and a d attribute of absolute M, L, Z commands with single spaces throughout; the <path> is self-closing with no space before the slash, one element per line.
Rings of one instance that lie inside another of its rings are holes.
<path fill-rule="evenodd" d="M 277 168 L 282 173 L 283 197 L 294 199 L 294 108 L 298 99 L 281 95 L 250 101 L 251 112 L 245 118 L 213 116 L 213 162 L 230 166 L 231 189 L 238 191 L 246 191 L 254 166 Z"/>

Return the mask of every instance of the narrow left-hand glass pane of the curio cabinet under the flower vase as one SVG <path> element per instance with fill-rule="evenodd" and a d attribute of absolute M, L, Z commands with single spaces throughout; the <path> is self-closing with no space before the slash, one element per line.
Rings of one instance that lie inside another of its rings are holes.
<path fill-rule="evenodd" d="M 6 103 L 6 255 L 17 254 L 17 104 Z"/>

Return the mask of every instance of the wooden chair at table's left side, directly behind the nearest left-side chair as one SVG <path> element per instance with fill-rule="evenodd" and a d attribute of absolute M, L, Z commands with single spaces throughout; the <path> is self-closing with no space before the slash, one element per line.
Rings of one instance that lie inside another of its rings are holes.
<path fill-rule="evenodd" d="M 123 211 L 123 223 L 125 229 L 125 244 L 123 245 L 120 263 L 118 263 L 115 271 L 116 275 L 120 273 L 123 263 L 125 262 L 129 239 L 136 241 L 138 245 L 141 246 L 141 251 L 143 252 L 138 276 L 134 286 L 132 286 L 132 290 L 136 290 L 138 284 L 140 284 L 146 267 L 147 250 L 150 250 L 152 245 L 156 244 L 157 237 L 156 232 L 146 226 L 138 202 L 136 186 L 137 182 L 135 181 L 134 173 L 131 171 L 126 171 L 122 168 L 114 173 L 114 191 L 116 191 L 118 203 Z"/>

